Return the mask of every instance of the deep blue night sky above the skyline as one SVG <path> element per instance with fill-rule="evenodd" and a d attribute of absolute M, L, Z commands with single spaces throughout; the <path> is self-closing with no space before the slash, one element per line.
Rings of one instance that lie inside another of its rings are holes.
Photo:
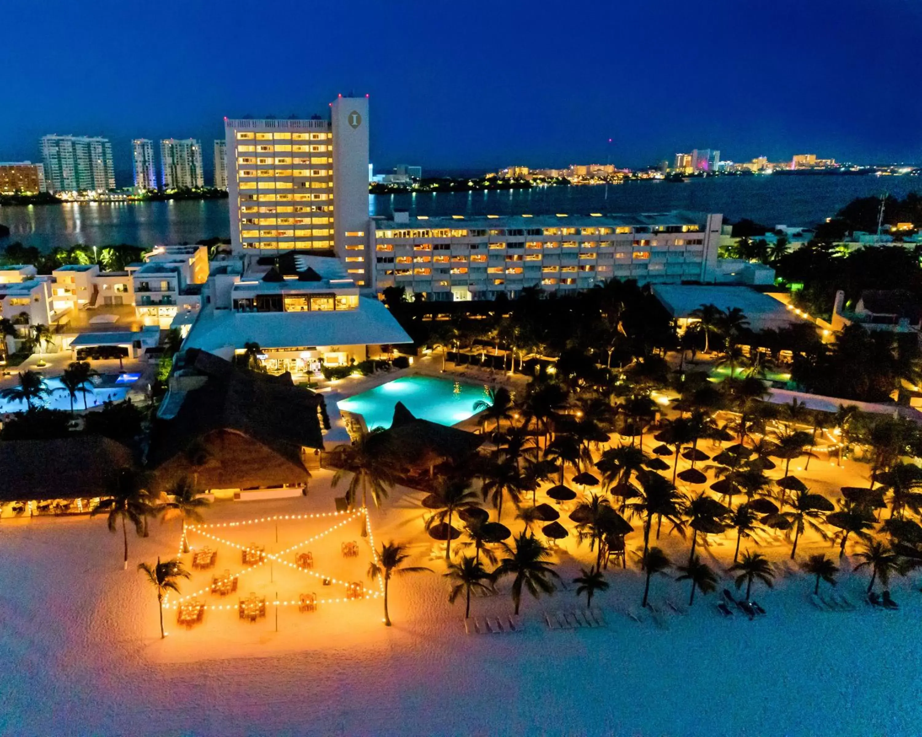
<path fill-rule="evenodd" d="M 916 0 L 0 0 L 0 27 L 0 160 L 106 135 L 123 174 L 133 137 L 198 137 L 210 170 L 225 115 L 325 114 L 351 90 L 378 170 L 922 162 Z"/>

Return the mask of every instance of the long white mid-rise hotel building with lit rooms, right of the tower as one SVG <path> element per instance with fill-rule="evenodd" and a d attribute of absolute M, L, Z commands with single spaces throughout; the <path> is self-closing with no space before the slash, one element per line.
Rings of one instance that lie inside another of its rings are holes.
<path fill-rule="evenodd" d="M 374 287 L 405 287 L 432 300 L 510 297 L 593 287 L 717 277 L 722 216 L 687 212 L 617 215 L 374 217 Z"/>

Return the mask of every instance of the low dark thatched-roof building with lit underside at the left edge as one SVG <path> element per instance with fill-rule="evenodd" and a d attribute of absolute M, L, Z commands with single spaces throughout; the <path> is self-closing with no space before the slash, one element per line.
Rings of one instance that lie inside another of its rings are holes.
<path fill-rule="evenodd" d="M 3 516 L 88 512 L 105 494 L 112 471 L 134 465 L 131 450 L 97 435 L 0 441 Z"/>

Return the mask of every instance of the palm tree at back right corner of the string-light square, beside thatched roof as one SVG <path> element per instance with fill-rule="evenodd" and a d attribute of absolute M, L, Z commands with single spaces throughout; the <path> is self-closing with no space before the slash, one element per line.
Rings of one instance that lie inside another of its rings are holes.
<path fill-rule="evenodd" d="M 351 445 L 337 446 L 331 453 L 331 463 L 337 469 L 333 474 L 333 488 L 345 477 L 352 474 L 346 489 L 349 509 L 355 506 L 361 491 L 361 506 L 368 509 L 368 492 L 372 492 L 375 507 L 381 507 L 382 499 L 387 498 L 389 489 L 396 483 L 396 450 L 392 447 L 384 428 L 375 427 L 364 433 L 361 438 L 353 440 Z M 362 534 L 368 534 L 362 525 Z"/>

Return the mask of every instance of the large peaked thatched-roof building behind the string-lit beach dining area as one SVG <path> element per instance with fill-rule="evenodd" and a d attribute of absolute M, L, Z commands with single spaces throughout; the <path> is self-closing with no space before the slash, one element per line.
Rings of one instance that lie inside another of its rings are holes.
<path fill-rule="evenodd" d="M 324 448 L 322 401 L 288 373 L 184 351 L 151 431 L 148 467 L 157 490 L 187 477 L 218 497 L 301 494 Z"/>

